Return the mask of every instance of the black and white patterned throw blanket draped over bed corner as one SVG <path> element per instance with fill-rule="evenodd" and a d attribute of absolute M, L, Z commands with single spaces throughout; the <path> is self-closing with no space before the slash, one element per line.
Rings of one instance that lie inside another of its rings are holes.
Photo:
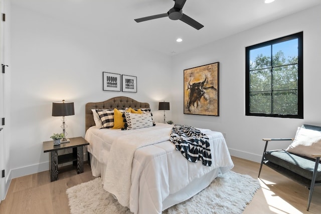
<path fill-rule="evenodd" d="M 176 150 L 191 162 L 202 160 L 203 165 L 211 166 L 212 155 L 209 138 L 199 129 L 188 125 L 174 125 L 171 132 L 171 142 Z"/>

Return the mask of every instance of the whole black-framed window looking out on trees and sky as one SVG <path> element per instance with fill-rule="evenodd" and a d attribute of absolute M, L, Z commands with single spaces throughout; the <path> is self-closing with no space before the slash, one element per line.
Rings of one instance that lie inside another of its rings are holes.
<path fill-rule="evenodd" d="M 245 114 L 303 119 L 303 32 L 245 51 Z"/>

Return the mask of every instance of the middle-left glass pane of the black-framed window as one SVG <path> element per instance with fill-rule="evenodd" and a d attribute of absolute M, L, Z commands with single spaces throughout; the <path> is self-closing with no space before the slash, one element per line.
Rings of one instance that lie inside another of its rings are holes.
<path fill-rule="evenodd" d="M 271 91 L 271 70 L 250 71 L 250 92 Z"/>

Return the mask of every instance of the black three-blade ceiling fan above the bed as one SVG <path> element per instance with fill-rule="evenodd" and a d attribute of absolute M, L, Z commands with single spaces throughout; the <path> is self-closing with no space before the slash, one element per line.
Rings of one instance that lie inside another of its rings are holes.
<path fill-rule="evenodd" d="M 185 5 L 186 0 L 173 0 L 175 2 L 175 5 L 172 9 L 170 9 L 166 14 L 158 14 L 154 16 L 149 17 L 143 17 L 139 19 L 135 19 L 137 23 L 144 22 L 148 20 L 163 18 L 163 17 L 169 17 L 171 20 L 181 20 L 182 22 L 185 22 L 186 24 L 192 26 L 193 28 L 200 30 L 204 26 L 197 21 L 193 20 L 191 17 L 183 14 L 183 7 Z"/>

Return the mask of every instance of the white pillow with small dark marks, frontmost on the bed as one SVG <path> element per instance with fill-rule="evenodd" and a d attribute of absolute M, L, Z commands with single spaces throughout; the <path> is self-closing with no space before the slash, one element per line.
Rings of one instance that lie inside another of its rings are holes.
<path fill-rule="evenodd" d="M 139 129 L 153 126 L 150 114 L 134 114 L 125 112 L 127 129 Z"/>

